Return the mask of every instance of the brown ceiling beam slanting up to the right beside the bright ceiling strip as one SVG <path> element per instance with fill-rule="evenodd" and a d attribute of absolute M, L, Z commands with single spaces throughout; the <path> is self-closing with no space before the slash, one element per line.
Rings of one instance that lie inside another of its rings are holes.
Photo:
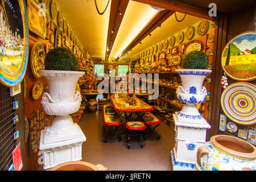
<path fill-rule="evenodd" d="M 137 36 L 131 41 L 131 43 L 122 51 L 121 55 L 119 55 L 115 61 L 117 61 L 120 57 L 124 56 L 127 52 L 129 52 L 132 48 L 137 46 L 146 36 L 148 36 L 155 28 L 159 27 L 161 23 L 167 20 L 175 11 L 163 10 L 159 11 L 155 14 L 155 16 L 144 26 L 139 32 Z"/>

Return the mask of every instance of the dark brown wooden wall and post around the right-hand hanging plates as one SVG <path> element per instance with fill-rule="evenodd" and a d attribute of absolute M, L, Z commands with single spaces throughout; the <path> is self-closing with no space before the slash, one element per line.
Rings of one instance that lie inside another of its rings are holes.
<path fill-rule="evenodd" d="M 210 139 L 213 135 L 217 134 L 227 134 L 228 132 L 221 132 L 218 130 L 220 114 L 223 113 L 221 109 L 221 93 L 223 89 L 221 88 L 221 77 L 224 75 L 224 72 L 221 67 L 221 51 L 224 49 L 226 43 L 229 42 L 234 36 L 241 34 L 245 31 L 253 31 L 255 30 L 255 7 L 248 7 L 247 9 L 243 9 L 239 12 L 235 12 L 232 14 L 219 14 L 216 19 L 216 31 L 214 40 L 216 40 L 216 45 L 214 45 L 214 60 L 215 65 L 213 65 L 213 79 L 215 82 L 213 83 L 213 88 L 211 93 L 213 93 L 212 97 L 212 107 L 211 110 L 211 129 L 207 133 L 207 140 Z M 232 80 L 228 78 L 228 83 L 232 84 L 233 82 L 237 82 L 236 80 Z M 248 81 L 251 84 L 256 84 L 256 81 Z M 214 90 L 214 91 L 213 91 Z M 241 126 L 238 126 L 238 128 Z M 251 127 L 251 126 L 250 126 Z M 255 129 L 254 129 L 255 130 Z M 236 133 L 237 137 L 237 133 Z"/>

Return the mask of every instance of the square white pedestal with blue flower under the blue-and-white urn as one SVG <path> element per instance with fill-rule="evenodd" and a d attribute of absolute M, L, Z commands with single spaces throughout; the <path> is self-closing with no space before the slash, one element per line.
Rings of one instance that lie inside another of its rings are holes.
<path fill-rule="evenodd" d="M 171 151 L 174 171 L 196 170 L 195 158 L 197 149 L 203 146 L 207 130 L 210 125 L 201 118 L 187 118 L 176 112 L 175 120 L 175 147 Z"/>

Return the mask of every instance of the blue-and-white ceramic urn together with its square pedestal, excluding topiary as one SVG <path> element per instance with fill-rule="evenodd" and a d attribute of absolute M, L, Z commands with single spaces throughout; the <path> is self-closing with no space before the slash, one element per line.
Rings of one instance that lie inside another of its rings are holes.
<path fill-rule="evenodd" d="M 175 147 L 171 150 L 174 171 L 196 170 L 197 149 L 206 142 L 206 133 L 210 125 L 199 113 L 196 104 L 203 103 L 207 89 L 203 86 L 205 76 L 211 73 L 207 69 L 176 69 L 182 86 L 176 90 L 179 101 L 185 105 L 181 111 L 173 114 L 175 121 Z"/>

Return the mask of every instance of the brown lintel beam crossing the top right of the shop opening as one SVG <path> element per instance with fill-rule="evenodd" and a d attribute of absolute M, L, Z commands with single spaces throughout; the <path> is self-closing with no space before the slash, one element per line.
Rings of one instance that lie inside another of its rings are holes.
<path fill-rule="evenodd" d="M 214 20 L 216 17 L 209 16 L 209 9 L 204 9 L 202 7 L 189 5 L 177 0 L 133 0 L 147 5 L 152 5 L 156 7 L 161 7 L 166 10 L 177 11 L 179 13 L 184 13 L 192 16 L 197 16 L 199 18 L 204 18 L 208 20 Z"/>

